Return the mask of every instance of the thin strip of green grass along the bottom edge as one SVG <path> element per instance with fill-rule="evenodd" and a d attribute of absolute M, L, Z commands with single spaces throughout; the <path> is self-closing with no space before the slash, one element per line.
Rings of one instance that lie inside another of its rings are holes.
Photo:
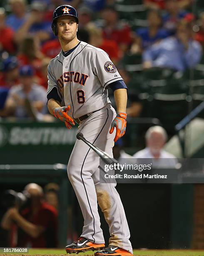
<path fill-rule="evenodd" d="M 67 256 L 93 256 L 92 251 L 88 251 L 86 253 L 79 254 L 66 254 L 64 249 L 30 249 L 28 255 L 67 255 Z M 11 255 L 11 253 L 0 254 L 0 255 Z M 15 253 L 17 254 L 17 253 Z M 13 254 L 12 254 L 13 255 Z M 25 255 L 18 254 L 18 255 Z M 134 250 L 134 256 L 204 256 L 204 251 L 199 250 Z"/>

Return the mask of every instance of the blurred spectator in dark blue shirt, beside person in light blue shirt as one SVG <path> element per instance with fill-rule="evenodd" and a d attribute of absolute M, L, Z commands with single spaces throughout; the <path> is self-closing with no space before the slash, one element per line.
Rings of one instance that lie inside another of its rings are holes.
<path fill-rule="evenodd" d="M 148 28 L 139 28 L 136 31 L 137 36 L 142 38 L 142 47 L 147 48 L 153 43 L 166 38 L 169 33 L 166 29 L 161 28 L 162 18 L 157 10 L 150 10 L 147 14 Z"/>

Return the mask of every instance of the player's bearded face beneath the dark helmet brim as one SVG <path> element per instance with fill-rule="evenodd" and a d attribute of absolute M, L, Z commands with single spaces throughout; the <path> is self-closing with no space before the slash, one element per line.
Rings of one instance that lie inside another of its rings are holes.
<path fill-rule="evenodd" d="M 78 24 L 72 16 L 61 16 L 57 19 L 57 32 L 59 39 L 72 41 L 77 36 Z"/>

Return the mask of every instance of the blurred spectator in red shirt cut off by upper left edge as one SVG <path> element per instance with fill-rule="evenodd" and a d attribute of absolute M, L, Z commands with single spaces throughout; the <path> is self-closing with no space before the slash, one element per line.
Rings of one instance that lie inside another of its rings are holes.
<path fill-rule="evenodd" d="M 5 10 L 0 8 L 0 52 L 7 51 L 9 54 L 15 53 L 14 33 L 12 28 L 5 24 Z"/>

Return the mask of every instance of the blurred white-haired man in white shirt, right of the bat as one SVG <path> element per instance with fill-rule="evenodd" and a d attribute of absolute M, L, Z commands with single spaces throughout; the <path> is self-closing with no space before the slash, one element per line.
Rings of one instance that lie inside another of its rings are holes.
<path fill-rule="evenodd" d="M 159 125 L 150 127 L 146 134 L 146 148 L 133 155 L 135 158 L 152 158 L 153 167 L 157 168 L 175 168 L 177 159 L 174 155 L 164 151 L 162 148 L 167 142 L 167 132 Z"/>

